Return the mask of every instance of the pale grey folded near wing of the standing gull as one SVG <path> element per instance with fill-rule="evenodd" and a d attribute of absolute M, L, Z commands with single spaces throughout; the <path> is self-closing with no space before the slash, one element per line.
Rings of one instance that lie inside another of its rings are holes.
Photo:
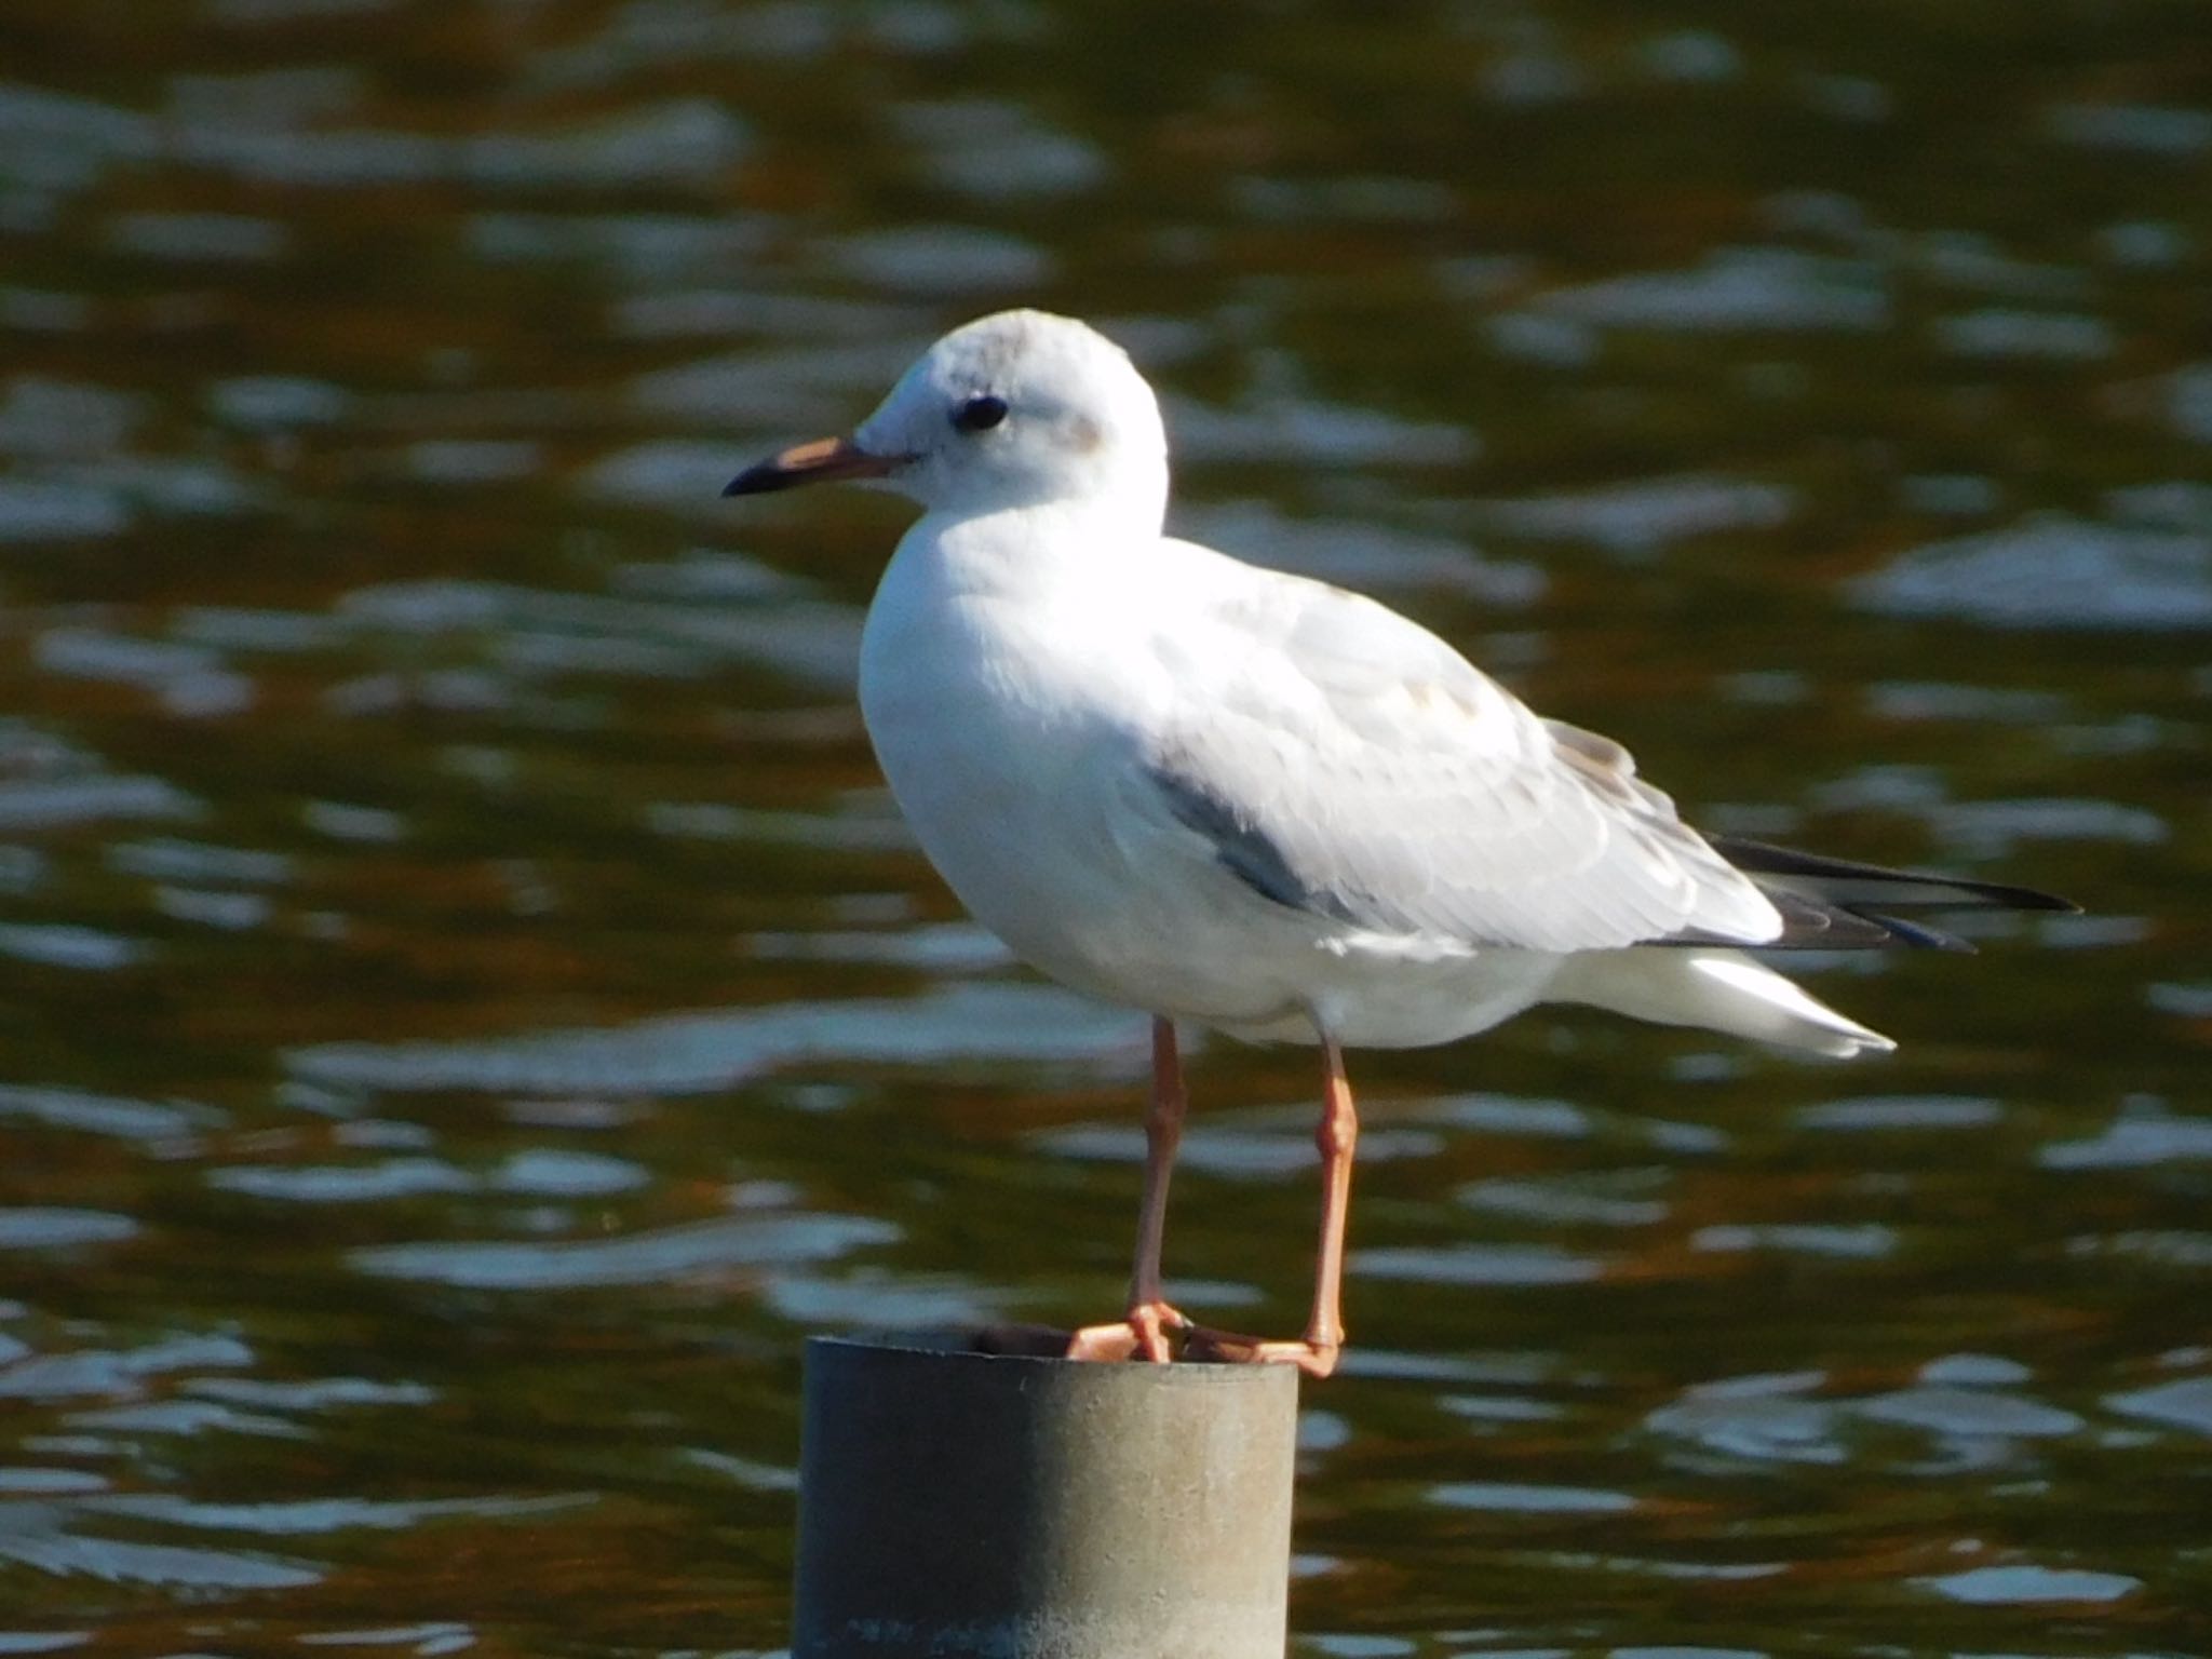
<path fill-rule="evenodd" d="M 1537 719 L 1371 599 L 1237 580 L 1161 655 L 1186 695 L 1148 734 L 1144 785 L 1279 905 L 1447 949 L 1783 933 L 1619 743 Z"/>

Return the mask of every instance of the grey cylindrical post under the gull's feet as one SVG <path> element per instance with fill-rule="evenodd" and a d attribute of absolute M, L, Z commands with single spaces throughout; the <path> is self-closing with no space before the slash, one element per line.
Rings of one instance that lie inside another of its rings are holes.
<path fill-rule="evenodd" d="M 807 1343 L 792 1659 L 1281 1659 L 1298 1371 Z"/>

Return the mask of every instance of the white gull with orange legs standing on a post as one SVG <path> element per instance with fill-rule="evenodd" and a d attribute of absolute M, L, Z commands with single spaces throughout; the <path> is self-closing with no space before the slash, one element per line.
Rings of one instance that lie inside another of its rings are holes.
<path fill-rule="evenodd" d="M 1699 834 L 1628 750 L 1535 714 L 1420 624 L 1166 535 L 1159 403 L 1079 321 L 967 323 L 849 438 L 783 449 L 723 493 L 841 478 L 922 507 L 860 635 L 860 712 L 922 852 L 1024 962 L 1152 1018 L 1128 1305 L 1068 1358 L 1336 1369 L 1358 1139 L 1345 1048 L 1455 1042 L 1571 1002 L 1885 1051 L 1747 951 L 1964 949 L 1898 911 L 2075 909 Z M 1166 1296 L 1181 1024 L 1321 1051 L 1301 1338 L 1210 1329 Z"/>

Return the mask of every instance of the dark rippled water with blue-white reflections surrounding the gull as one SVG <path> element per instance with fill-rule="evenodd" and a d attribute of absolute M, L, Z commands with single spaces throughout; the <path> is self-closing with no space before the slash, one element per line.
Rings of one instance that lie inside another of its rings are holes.
<path fill-rule="evenodd" d="M 1099 1316 L 1141 1024 L 852 708 L 896 504 L 1091 314 L 1177 524 L 1703 823 L 2057 887 L 1820 1066 L 1356 1057 L 1298 1652 L 2212 1650 L 2197 9 L 197 0 L 0 18 L 0 1652 L 765 1652 L 796 1352 Z M 1181 1298 L 1294 1327 L 1310 1057 Z"/>

